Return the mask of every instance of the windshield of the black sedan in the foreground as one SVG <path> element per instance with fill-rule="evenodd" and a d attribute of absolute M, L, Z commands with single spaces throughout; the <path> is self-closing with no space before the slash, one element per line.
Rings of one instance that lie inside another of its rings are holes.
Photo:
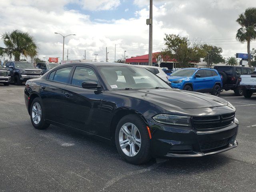
<path fill-rule="evenodd" d="M 145 68 L 134 66 L 98 67 L 108 85 L 114 90 L 171 88 Z"/>

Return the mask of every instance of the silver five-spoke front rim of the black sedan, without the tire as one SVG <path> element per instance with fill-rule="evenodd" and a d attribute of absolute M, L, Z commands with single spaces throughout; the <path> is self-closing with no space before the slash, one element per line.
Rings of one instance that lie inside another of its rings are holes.
<path fill-rule="evenodd" d="M 138 128 L 132 123 L 124 124 L 119 131 L 120 148 L 129 157 L 140 151 L 141 136 Z"/>

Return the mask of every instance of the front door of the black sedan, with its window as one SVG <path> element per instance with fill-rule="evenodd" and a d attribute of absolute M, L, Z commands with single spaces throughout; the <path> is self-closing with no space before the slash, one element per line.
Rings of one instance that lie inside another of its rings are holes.
<path fill-rule="evenodd" d="M 65 87 L 65 124 L 92 134 L 106 137 L 107 130 L 102 130 L 101 102 L 102 91 L 82 88 L 83 81 L 94 81 L 101 85 L 95 70 L 90 66 L 76 66 Z"/>

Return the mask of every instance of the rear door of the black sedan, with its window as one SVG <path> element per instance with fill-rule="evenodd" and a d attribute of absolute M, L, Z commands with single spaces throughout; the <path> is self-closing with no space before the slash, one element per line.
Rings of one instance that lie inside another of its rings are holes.
<path fill-rule="evenodd" d="M 73 66 L 65 66 L 52 71 L 47 83 L 40 84 L 40 96 L 45 109 L 46 119 L 64 124 L 66 107 L 64 88 L 66 87 Z"/>

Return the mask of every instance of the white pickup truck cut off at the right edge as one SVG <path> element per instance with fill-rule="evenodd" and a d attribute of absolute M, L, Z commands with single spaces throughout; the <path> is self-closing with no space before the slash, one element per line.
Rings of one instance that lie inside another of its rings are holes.
<path fill-rule="evenodd" d="M 253 93 L 256 93 L 256 72 L 252 74 L 241 75 L 240 85 L 244 89 L 244 97 L 250 98 Z"/>

